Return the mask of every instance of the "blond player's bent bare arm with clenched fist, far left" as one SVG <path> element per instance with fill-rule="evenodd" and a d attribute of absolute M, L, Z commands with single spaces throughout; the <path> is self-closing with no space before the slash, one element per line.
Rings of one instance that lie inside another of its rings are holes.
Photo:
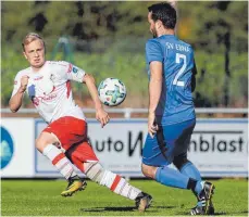
<path fill-rule="evenodd" d="M 10 99 L 9 105 L 10 105 L 11 112 L 15 113 L 21 107 L 22 102 L 23 102 L 23 95 L 27 88 L 27 82 L 28 82 L 28 76 L 23 76 L 21 78 L 21 86 L 17 92 Z"/>

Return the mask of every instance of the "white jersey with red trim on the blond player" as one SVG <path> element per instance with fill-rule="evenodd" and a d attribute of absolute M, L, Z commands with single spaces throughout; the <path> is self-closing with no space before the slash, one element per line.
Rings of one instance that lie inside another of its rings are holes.
<path fill-rule="evenodd" d="M 63 116 L 85 119 L 82 108 L 73 100 L 70 84 L 71 80 L 83 82 L 83 69 L 67 62 L 46 61 L 38 72 L 28 67 L 17 73 L 12 95 L 17 92 L 24 75 L 29 77 L 26 92 L 47 123 Z"/>

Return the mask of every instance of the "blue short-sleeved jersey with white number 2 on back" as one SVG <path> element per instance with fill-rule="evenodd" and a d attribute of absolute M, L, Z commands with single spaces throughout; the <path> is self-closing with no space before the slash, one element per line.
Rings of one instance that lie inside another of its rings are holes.
<path fill-rule="evenodd" d="M 152 61 L 163 64 L 161 98 L 155 110 L 158 124 L 171 125 L 196 118 L 191 95 L 195 67 L 190 44 L 174 35 L 163 35 L 146 43 L 147 66 Z M 150 71 L 148 71 L 150 79 Z"/>

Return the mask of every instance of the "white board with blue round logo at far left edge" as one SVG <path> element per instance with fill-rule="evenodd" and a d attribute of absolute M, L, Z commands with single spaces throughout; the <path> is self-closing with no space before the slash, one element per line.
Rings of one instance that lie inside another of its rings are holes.
<path fill-rule="evenodd" d="M 34 170 L 34 118 L 1 119 L 1 177 L 30 178 Z"/>

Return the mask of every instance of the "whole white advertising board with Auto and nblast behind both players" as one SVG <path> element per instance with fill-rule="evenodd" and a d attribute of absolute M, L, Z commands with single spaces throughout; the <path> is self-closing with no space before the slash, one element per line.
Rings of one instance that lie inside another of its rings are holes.
<path fill-rule="evenodd" d="M 127 177 L 142 177 L 141 150 L 147 119 L 112 119 L 104 128 L 88 120 L 89 140 L 101 164 Z M 248 120 L 198 119 L 188 158 L 204 177 L 248 177 Z M 35 137 L 46 124 L 35 122 Z M 61 177 L 51 163 L 35 152 L 37 177 Z"/>

